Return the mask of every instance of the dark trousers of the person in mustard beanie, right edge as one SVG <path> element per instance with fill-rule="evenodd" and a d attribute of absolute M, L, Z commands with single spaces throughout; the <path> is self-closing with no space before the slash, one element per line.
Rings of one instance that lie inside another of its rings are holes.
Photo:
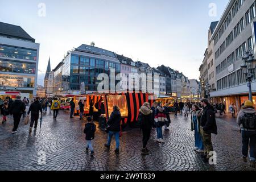
<path fill-rule="evenodd" d="M 248 149 L 250 146 L 250 160 L 256 158 L 256 131 L 243 131 L 242 130 L 242 155 L 247 158 Z"/>

